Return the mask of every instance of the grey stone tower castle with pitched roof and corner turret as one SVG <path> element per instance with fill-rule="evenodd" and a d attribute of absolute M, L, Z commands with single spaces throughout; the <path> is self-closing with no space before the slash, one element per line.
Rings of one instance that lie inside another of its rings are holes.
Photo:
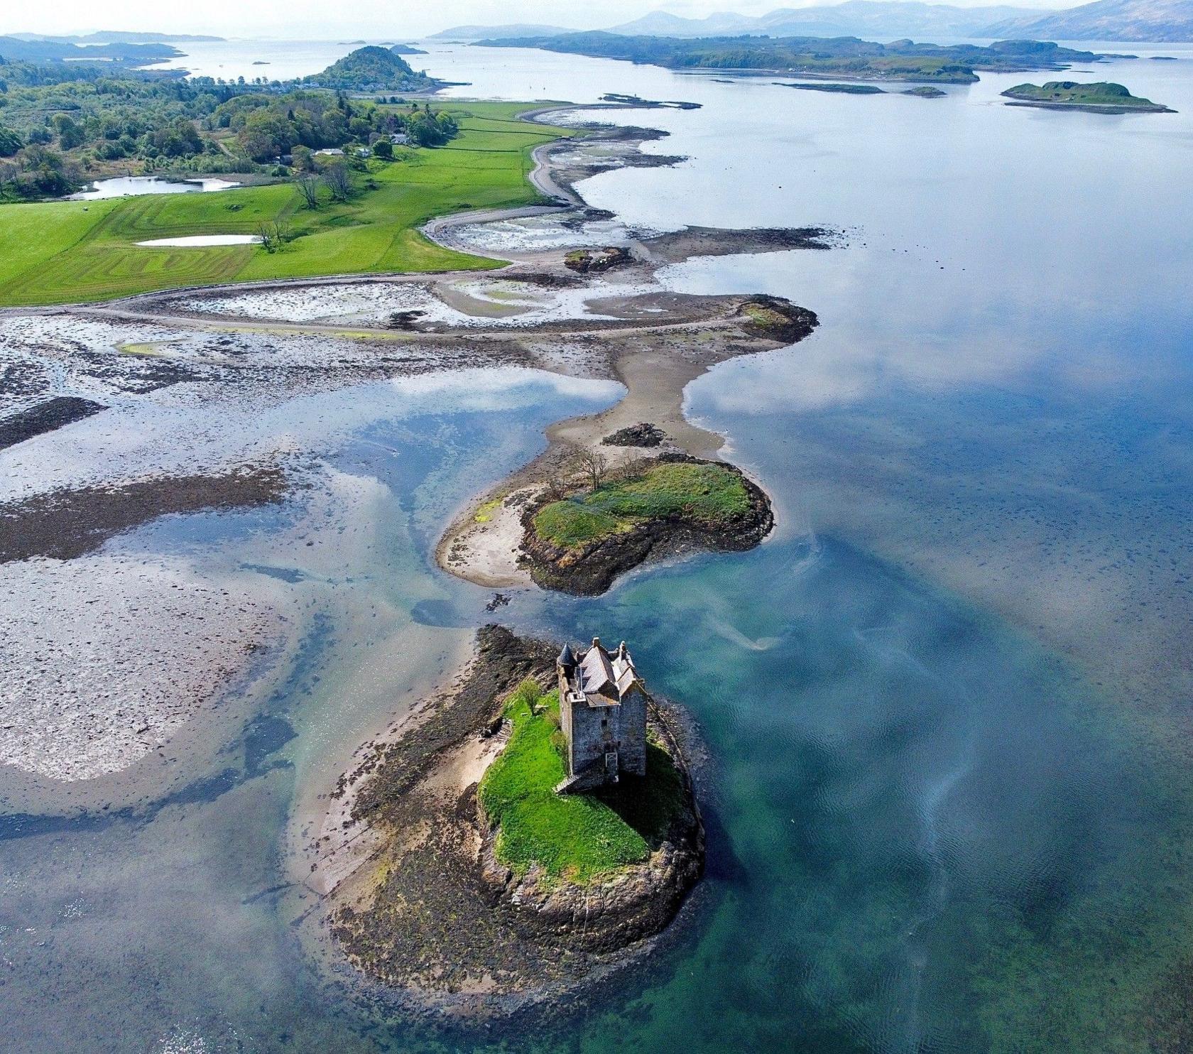
<path fill-rule="evenodd" d="M 564 645 L 555 667 L 568 769 L 555 789 L 595 790 L 617 783 L 623 772 L 645 776 L 647 690 L 625 641 L 610 652 L 593 637 L 579 659 Z"/>

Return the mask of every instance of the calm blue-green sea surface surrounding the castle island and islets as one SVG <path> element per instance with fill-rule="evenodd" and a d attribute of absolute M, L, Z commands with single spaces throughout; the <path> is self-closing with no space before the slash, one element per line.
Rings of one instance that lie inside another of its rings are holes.
<path fill-rule="evenodd" d="M 665 276 L 821 318 L 688 389 L 774 495 L 777 536 L 501 611 L 625 637 L 691 709 L 716 773 L 709 879 L 649 969 L 564 1025 L 429 1035 L 309 954 L 296 816 L 492 617 L 433 568 L 445 518 L 616 390 L 500 371 L 296 400 L 296 420 L 359 415 L 323 454 L 367 488 L 367 543 L 330 573 L 280 544 L 301 497 L 111 543 L 288 577 L 304 645 L 265 661 L 259 713 L 184 790 L 0 818 L 6 1048 L 1186 1049 L 1193 49 L 1135 50 L 1180 61 L 1084 79 L 1179 113 L 1001 105 L 1039 74 L 922 100 L 418 58 L 471 81 L 459 95 L 703 103 L 632 115 L 682 165 L 585 185 L 630 223 L 843 232 L 832 252 Z"/>

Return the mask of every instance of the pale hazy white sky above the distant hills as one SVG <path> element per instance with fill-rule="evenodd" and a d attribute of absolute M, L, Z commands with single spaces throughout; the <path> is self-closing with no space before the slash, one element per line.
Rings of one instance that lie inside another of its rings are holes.
<path fill-rule="evenodd" d="M 817 0 L 830 2 L 830 0 Z M 1016 7 L 1069 7 L 1075 0 L 950 0 L 973 7 L 1005 2 Z M 1080 2 L 1080 0 L 1077 0 Z M 462 23 L 534 21 L 576 29 L 598 29 L 628 21 L 649 11 L 700 17 L 713 11 L 764 14 L 775 7 L 806 7 L 801 0 L 202 0 L 162 4 L 161 0 L 55 0 L 20 4 L 0 0 L 0 33 L 73 33 L 98 29 L 155 30 L 215 36 L 268 36 L 339 39 L 419 37 Z"/>

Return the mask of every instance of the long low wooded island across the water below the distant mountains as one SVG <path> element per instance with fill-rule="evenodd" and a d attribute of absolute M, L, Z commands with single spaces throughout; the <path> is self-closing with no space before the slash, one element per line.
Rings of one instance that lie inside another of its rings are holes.
<path fill-rule="evenodd" d="M 975 70 L 1008 73 L 1067 69 L 1073 62 L 1098 62 L 1093 51 L 1077 51 L 1039 41 L 976 44 L 877 44 L 857 37 L 626 37 L 589 32 L 511 37 L 478 42 L 490 48 L 540 48 L 593 58 L 622 58 L 681 70 L 747 70 L 796 73 L 803 76 L 972 84 Z"/>

